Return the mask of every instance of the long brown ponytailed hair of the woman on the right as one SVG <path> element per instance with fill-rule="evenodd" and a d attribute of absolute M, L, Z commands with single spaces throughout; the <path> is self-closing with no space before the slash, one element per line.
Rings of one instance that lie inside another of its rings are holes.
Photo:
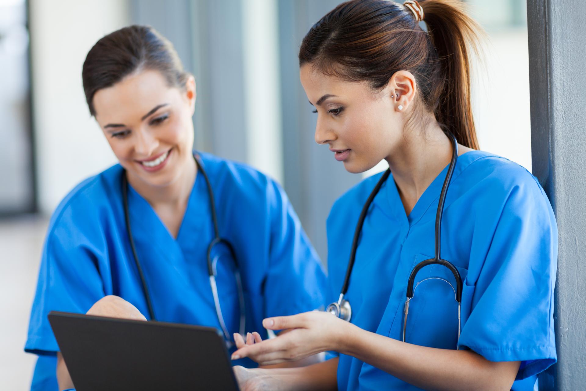
<path fill-rule="evenodd" d="M 305 35 L 299 66 L 382 89 L 398 70 L 413 73 L 426 110 L 466 147 L 478 149 L 470 102 L 469 49 L 482 32 L 460 0 L 420 0 L 427 32 L 390 0 L 352 0 Z"/>

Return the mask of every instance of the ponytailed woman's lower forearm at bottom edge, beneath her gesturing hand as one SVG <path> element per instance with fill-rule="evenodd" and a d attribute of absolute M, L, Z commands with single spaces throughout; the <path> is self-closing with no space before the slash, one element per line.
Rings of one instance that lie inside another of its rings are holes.
<path fill-rule="evenodd" d="M 337 390 L 338 358 L 300 368 L 263 369 L 264 376 L 277 379 L 283 391 Z"/>

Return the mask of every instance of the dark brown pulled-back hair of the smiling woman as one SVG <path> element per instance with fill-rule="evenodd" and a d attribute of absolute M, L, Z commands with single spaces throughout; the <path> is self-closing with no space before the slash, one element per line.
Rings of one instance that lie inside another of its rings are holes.
<path fill-rule="evenodd" d="M 183 70 L 173 44 L 150 26 L 128 26 L 98 40 L 81 70 L 91 115 L 96 115 L 93 99 L 98 90 L 147 69 L 161 72 L 172 87 L 185 87 L 190 75 Z"/>

